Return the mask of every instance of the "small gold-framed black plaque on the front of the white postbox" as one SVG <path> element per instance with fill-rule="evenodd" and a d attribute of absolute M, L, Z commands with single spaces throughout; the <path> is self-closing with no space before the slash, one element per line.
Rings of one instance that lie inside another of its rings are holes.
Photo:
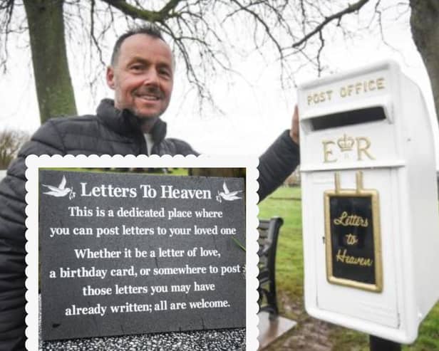
<path fill-rule="evenodd" d="M 325 192 L 326 271 L 330 283 L 382 290 L 378 193 Z"/>

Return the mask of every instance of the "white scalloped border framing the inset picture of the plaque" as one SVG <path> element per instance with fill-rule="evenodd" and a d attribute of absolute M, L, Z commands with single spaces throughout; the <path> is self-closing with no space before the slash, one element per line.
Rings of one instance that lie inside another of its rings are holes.
<path fill-rule="evenodd" d="M 259 184 L 257 178 L 259 172 L 257 157 L 244 156 L 36 156 L 26 157 L 26 349 L 38 350 L 38 169 L 42 167 L 240 167 L 246 168 L 246 350 L 257 350 L 259 333 L 257 325 L 257 226 L 258 226 L 258 196 Z M 253 240 L 250 240 L 253 239 Z"/>

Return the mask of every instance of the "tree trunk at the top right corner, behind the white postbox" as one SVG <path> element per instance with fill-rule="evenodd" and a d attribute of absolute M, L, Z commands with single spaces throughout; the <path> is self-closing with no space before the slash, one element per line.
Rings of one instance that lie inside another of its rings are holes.
<path fill-rule="evenodd" d="M 427 68 L 439 118 L 439 1 L 410 0 L 410 7 L 413 41 Z"/>

